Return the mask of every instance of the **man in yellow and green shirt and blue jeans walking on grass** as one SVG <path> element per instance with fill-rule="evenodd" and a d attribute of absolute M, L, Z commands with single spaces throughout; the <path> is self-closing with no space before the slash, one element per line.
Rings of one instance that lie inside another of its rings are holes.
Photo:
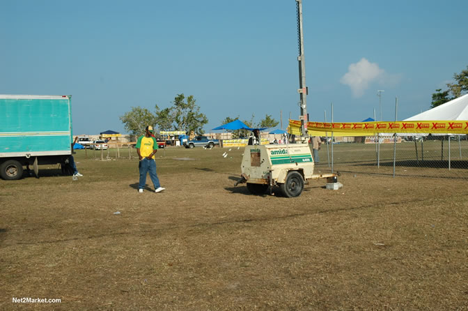
<path fill-rule="evenodd" d="M 156 162 L 155 153 L 157 152 L 157 142 L 155 137 L 152 137 L 153 126 L 147 126 L 145 128 L 145 135 L 141 135 L 137 141 L 137 153 L 140 158 L 138 165 L 140 170 L 140 181 L 138 185 L 138 192 L 143 192 L 143 188 L 146 185 L 146 174 L 150 173 L 150 179 L 153 181 L 155 186 L 155 192 L 161 192 L 166 188 L 162 188 L 159 184 L 159 179 L 156 174 Z"/>

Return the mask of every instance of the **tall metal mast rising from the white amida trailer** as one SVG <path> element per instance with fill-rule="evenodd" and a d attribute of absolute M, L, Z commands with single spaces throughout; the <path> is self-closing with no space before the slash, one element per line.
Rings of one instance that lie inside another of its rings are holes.
<path fill-rule="evenodd" d="M 306 62 L 304 59 L 304 31 L 302 30 L 302 0 L 296 0 L 297 8 L 297 35 L 298 35 L 298 45 L 299 45 L 299 56 L 297 56 L 297 61 L 299 61 L 299 92 L 300 102 L 299 106 L 301 107 L 301 115 L 299 119 L 301 120 L 301 130 L 302 136 L 301 141 L 307 141 L 309 136 L 307 133 L 307 86 L 306 86 Z"/>

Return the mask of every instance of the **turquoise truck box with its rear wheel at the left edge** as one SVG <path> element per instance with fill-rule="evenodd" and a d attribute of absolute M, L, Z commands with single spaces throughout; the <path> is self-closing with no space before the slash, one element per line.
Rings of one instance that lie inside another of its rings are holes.
<path fill-rule="evenodd" d="M 0 177 L 21 179 L 23 166 L 61 163 L 72 154 L 72 96 L 0 94 Z"/>

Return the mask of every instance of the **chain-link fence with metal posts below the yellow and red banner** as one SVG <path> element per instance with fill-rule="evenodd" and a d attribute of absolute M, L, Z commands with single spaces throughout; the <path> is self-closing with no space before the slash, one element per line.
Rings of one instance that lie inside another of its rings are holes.
<path fill-rule="evenodd" d="M 334 172 L 354 174 L 468 179 L 467 135 L 419 139 L 402 137 L 396 144 L 366 144 L 364 141 L 323 143 L 316 169 L 322 172 L 333 168 Z"/>

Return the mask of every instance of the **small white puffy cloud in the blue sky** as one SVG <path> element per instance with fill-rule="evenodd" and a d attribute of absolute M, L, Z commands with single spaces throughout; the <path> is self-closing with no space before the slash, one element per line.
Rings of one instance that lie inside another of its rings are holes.
<path fill-rule="evenodd" d="M 359 98 L 364 95 L 364 91 L 368 89 L 372 82 L 380 82 L 383 84 L 387 77 L 396 77 L 387 75 L 385 70 L 379 67 L 377 63 L 370 63 L 364 57 L 357 63 L 352 63 L 348 67 L 348 73 L 341 77 L 340 82 L 350 86 L 352 95 Z M 399 78 L 397 78 L 399 80 Z M 398 83 L 398 82 L 397 82 Z"/>

